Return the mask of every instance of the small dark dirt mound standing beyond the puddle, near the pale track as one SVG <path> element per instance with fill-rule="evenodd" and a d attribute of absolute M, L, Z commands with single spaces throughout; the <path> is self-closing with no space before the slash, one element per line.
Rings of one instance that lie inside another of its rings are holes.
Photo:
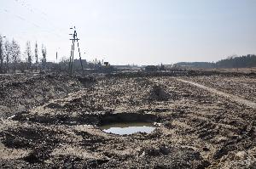
<path fill-rule="evenodd" d="M 159 85 L 154 85 L 149 92 L 148 99 L 157 100 L 157 101 L 166 101 L 170 99 L 170 94 L 166 93 L 163 87 L 160 87 Z"/>

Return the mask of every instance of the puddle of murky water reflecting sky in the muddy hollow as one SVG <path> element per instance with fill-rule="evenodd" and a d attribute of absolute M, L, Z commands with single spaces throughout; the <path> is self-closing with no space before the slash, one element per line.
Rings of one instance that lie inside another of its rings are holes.
<path fill-rule="evenodd" d="M 135 132 L 150 133 L 154 131 L 155 126 L 151 122 L 127 122 L 127 123 L 113 123 L 101 126 L 103 132 L 113 134 L 132 134 Z"/>

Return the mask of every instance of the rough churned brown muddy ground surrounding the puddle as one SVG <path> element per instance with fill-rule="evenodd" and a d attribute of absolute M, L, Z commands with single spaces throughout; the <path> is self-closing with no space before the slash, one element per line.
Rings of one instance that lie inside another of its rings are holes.
<path fill-rule="evenodd" d="M 255 108 L 182 81 L 255 101 L 248 90 L 253 77 L 26 78 L 32 83 L 1 79 L 0 168 L 256 168 Z M 211 85 L 219 80 L 221 88 Z M 230 81 L 240 86 L 229 90 Z M 35 85 L 55 94 L 39 93 Z M 16 110 L 13 98 L 27 106 Z M 99 128 L 122 121 L 158 127 L 122 136 Z"/>

